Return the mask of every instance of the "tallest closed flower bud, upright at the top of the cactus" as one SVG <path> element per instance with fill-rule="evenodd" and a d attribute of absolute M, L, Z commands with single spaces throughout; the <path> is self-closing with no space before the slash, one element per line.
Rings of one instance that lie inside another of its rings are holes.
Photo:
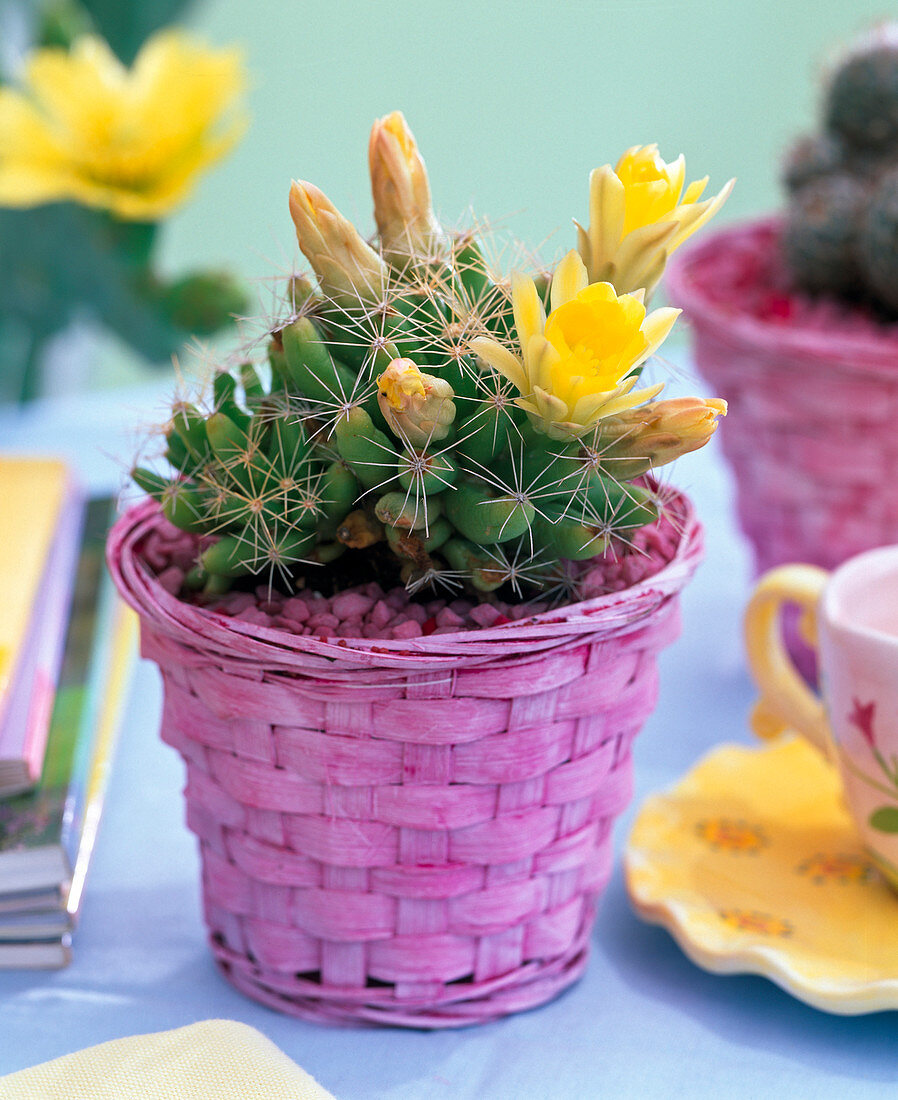
<path fill-rule="evenodd" d="M 442 231 L 430 200 L 427 168 L 402 111 L 372 127 L 368 164 L 384 255 L 399 266 L 409 257 L 427 257 Z"/>

